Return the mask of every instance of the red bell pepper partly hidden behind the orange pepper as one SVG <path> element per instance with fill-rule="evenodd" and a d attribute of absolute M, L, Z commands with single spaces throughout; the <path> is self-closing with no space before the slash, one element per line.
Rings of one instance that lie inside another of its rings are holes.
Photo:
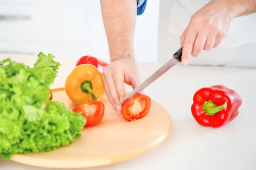
<path fill-rule="evenodd" d="M 77 62 L 76 62 L 76 66 L 81 65 L 81 64 L 92 64 L 94 65 L 99 72 L 101 72 L 103 74 L 103 68 L 105 68 L 108 63 L 97 59 L 96 57 L 93 56 L 83 56 L 81 57 Z"/>

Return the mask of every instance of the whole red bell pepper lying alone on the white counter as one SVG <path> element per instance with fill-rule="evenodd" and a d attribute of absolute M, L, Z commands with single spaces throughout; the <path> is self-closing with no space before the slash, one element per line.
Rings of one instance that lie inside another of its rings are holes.
<path fill-rule="evenodd" d="M 220 127 L 239 114 L 242 99 L 224 85 L 201 88 L 195 92 L 191 112 L 202 126 Z"/>

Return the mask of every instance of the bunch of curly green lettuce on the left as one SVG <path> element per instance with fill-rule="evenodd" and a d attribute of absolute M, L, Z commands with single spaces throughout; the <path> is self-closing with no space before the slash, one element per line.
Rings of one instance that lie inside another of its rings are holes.
<path fill-rule="evenodd" d="M 49 100 L 58 73 L 52 54 L 38 54 L 33 68 L 0 61 L 0 157 L 38 153 L 69 145 L 81 136 L 86 119 Z"/>

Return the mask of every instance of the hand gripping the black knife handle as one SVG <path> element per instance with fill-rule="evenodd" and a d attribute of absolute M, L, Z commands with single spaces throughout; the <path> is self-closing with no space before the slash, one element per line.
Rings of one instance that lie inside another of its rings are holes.
<path fill-rule="evenodd" d="M 235 17 L 225 0 L 212 0 L 197 11 L 180 37 L 183 46 L 182 63 L 187 65 L 189 56 L 215 48 L 226 37 L 231 20 Z"/>

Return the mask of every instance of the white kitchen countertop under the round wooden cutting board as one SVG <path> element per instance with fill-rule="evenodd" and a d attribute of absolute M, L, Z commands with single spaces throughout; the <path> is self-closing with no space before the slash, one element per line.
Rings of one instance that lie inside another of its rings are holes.
<path fill-rule="evenodd" d="M 34 55 L 0 54 L 32 66 Z M 56 58 L 61 62 L 51 88 L 64 87 L 77 59 Z M 139 63 L 143 81 L 157 70 L 159 63 Z M 128 161 L 86 170 L 246 170 L 256 169 L 256 69 L 176 65 L 153 82 L 144 93 L 165 107 L 172 116 L 169 137 L 158 147 Z M 190 107 L 199 88 L 222 84 L 242 98 L 239 115 L 220 128 L 202 127 Z M 131 87 L 125 86 L 126 91 Z M 157 127 L 156 127 L 157 128 Z M 0 170 L 44 170 L 13 161 L 0 160 Z"/>

